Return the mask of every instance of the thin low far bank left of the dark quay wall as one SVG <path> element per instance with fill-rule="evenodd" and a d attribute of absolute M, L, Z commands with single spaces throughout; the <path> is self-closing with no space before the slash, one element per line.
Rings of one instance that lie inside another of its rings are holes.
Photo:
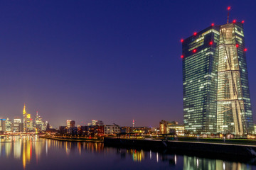
<path fill-rule="evenodd" d="M 83 137 L 48 137 L 48 136 L 41 136 L 41 138 L 45 138 L 48 140 L 60 140 L 65 142 L 103 142 L 100 139 L 88 139 Z"/>

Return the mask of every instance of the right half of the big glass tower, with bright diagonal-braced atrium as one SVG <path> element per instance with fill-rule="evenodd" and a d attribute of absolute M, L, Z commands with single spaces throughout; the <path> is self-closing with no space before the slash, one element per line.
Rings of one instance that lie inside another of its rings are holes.
<path fill-rule="evenodd" d="M 217 132 L 252 133 L 252 108 L 245 57 L 243 24 L 220 26 Z"/>

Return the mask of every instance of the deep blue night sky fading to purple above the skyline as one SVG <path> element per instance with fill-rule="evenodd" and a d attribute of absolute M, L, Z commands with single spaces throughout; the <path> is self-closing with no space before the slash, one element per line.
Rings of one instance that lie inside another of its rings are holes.
<path fill-rule="evenodd" d="M 23 103 L 54 127 L 66 119 L 159 126 L 183 122 L 181 38 L 245 20 L 256 120 L 256 1 L 1 1 L 0 117 Z"/>

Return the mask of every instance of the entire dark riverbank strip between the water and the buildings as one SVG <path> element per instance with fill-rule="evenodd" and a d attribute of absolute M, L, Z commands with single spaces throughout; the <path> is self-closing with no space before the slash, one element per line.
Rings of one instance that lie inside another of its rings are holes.
<path fill-rule="evenodd" d="M 104 137 L 88 139 L 85 137 L 49 137 L 49 140 L 63 142 L 104 142 L 105 147 L 130 147 L 150 149 L 156 152 L 176 152 L 180 154 L 218 155 L 222 157 L 250 157 L 256 158 L 255 140 L 220 140 L 220 139 L 179 139 L 179 140 L 151 140 L 135 138 Z"/>

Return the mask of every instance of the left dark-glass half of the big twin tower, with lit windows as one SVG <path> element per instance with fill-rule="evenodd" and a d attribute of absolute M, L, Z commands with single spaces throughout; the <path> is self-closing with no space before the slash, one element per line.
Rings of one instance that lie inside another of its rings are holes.
<path fill-rule="evenodd" d="M 190 133 L 216 132 L 219 26 L 182 43 L 183 113 Z"/>

